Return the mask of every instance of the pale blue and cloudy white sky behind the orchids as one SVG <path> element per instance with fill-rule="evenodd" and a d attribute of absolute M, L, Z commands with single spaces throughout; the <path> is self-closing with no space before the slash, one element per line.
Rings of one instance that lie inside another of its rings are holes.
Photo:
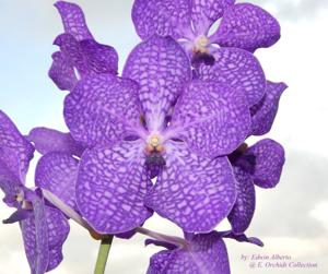
<path fill-rule="evenodd" d="M 60 92 L 47 78 L 51 45 L 62 32 L 52 0 L 0 0 L 0 109 L 23 133 L 47 126 L 67 130 Z M 130 20 L 132 0 L 75 0 L 86 15 L 95 38 L 119 52 L 120 69 L 139 43 Z M 267 78 L 284 81 L 280 110 L 268 136 L 282 143 L 286 164 L 274 190 L 257 189 L 257 211 L 247 234 L 263 240 L 265 248 L 226 240 L 232 274 L 327 274 L 328 273 L 328 1 L 253 0 L 274 14 L 282 26 L 281 40 L 256 52 Z M 256 140 L 251 140 L 250 143 Z M 28 183 L 33 184 L 33 162 Z M 2 198 L 2 193 L 0 194 Z M 0 204 L 0 218 L 11 210 Z M 172 224 L 154 217 L 147 228 L 180 234 Z M 219 229 L 226 229 L 224 222 Z M 115 239 L 108 274 L 145 273 L 150 255 L 159 250 L 143 247 L 143 236 Z M 90 274 L 98 242 L 71 224 L 65 260 L 54 274 Z M 314 270 L 254 270 L 242 254 L 281 254 L 292 261 L 317 263 Z M 17 225 L 0 224 L 0 274 L 26 274 L 28 265 Z"/>

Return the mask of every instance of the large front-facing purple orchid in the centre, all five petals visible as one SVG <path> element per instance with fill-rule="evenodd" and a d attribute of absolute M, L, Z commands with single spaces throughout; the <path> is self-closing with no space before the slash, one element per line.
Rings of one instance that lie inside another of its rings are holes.
<path fill-rule="evenodd" d="M 248 106 L 241 91 L 190 82 L 189 68 L 176 41 L 154 36 L 131 52 L 122 79 L 85 78 L 67 96 L 67 126 L 90 147 L 77 203 L 96 231 L 131 230 L 149 209 L 186 231 L 209 231 L 232 209 L 235 181 L 224 155 L 249 131 Z M 154 187 L 153 166 L 161 169 Z"/>

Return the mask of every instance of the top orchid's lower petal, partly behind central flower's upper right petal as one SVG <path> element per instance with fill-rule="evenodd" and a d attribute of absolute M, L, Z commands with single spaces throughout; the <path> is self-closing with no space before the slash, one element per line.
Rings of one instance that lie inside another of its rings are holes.
<path fill-rule="evenodd" d="M 199 78 L 204 81 L 216 81 L 242 91 L 251 107 L 265 95 L 266 76 L 256 57 L 243 49 L 220 48 L 214 52 L 213 65 L 202 64 Z"/>

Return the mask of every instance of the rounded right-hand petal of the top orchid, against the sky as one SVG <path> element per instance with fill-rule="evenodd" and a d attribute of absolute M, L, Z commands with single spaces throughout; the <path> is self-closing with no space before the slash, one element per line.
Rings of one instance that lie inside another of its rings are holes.
<path fill-rule="evenodd" d="M 263 9 L 250 4 L 238 3 L 229 8 L 222 17 L 211 41 L 222 47 L 236 47 L 255 51 L 268 48 L 280 39 L 278 21 Z"/>

